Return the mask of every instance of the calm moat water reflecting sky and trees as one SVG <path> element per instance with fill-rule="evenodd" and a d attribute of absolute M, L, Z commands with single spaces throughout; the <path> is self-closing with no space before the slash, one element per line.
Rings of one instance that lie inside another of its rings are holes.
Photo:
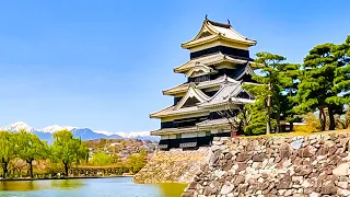
<path fill-rule="evenodd" d="M 179 197 L 185 187 L 133 184 L 131 177 L 0 182 L 0 197 Z"/>

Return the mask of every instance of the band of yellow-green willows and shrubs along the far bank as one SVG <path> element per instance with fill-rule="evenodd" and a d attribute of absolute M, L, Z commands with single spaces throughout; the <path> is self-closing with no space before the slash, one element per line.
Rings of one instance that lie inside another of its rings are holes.
<path fill-rule="evenodd" d="M 36 135 L 0 131 L 0 163 L 2 178 L 70 176 L 72 167 L 118 167 L 122 173 L 137 173 L 147 163 L 148 152 L 132 153 L 126 160 L 98 152 L 90 157 L 86 143 L 74 138 L 69 130 L 52 135 L 48 144 Z"/>

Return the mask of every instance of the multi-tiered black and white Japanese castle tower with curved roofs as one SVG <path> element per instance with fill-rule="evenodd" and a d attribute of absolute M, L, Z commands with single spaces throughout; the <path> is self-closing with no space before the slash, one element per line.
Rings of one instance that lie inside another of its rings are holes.
<path fill-rule="evenodd" d="M 205 19 L 197 36 L 182 44 L 190 51 L 189 61 L 174 69 L 187 77 L 183 84 L 164 90 L 174 104 L 150 115 L 161 119 L 160 149 L 196 148 L 211 144 L 215 136 L 231 135 L 229 119 L 220 113 L 228 104 L 253 103 L 244 83 L 254 83 L 249 47 L 256 42 L 244 37 L 229 24 Z"/>

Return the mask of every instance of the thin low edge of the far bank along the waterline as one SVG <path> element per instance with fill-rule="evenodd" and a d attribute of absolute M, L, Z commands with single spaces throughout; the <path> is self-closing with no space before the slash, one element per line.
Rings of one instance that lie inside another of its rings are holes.
<path fill-rule="evenodd" d="M 43 178 L 1 178 L 0 182 L 32 182 L 45 179 L 92 179 L 92 178 L 115 178 L 115 177 L 133 177 L 135 175 L 115 175 L 115 176 L 72 176 L 72 177 L 43 177 Z"/>

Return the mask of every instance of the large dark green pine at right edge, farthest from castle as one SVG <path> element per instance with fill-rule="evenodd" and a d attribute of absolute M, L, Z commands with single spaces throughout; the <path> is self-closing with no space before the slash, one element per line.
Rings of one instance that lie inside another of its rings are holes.
<path fill-rule="evenodd" d="M 336 128 L 335 115 L 342 114 L 343 104 L 349 103 L 350 69 L 348 65 L 349 37 L 342 45 L 326 43 L 315 46 L 304 58 L 301 83 L 294 108 L 298 113 L 319 112 L 320 130 Z M 339 93 L 345 95 L 339 96 Z"/>

